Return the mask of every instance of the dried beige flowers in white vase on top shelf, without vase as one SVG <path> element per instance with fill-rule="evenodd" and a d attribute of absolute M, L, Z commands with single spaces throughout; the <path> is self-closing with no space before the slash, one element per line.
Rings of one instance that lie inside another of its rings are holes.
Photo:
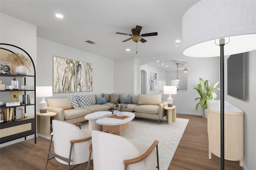
<path fill-rule="evenodd" d="M 31 60 L 20 53 L 12 53 L 8 55 L 8 60 L 11 63 L 15 63 L 17 65 L 26 66 L 30 71 L 29 67 L 32 65 Z"/>

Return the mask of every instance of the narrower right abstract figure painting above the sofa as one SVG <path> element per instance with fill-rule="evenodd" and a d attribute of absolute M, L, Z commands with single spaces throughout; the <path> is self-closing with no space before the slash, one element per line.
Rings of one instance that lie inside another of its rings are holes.
<path fill-rule="evenodd" d="M 92 64 L 76 61 L 76 92 L 92 91 Z"/>

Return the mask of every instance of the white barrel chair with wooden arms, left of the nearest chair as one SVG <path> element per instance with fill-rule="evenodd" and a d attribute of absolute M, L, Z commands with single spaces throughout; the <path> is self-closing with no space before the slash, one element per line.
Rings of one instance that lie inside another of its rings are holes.
<path fill-rule="evenodd" d="M 92 143 L 91 134 L 91 130 L 81 130 L 71 123 L 52 120 L 52 134 L 45 170 L 48 160 L 52 158 L 55 158 L 62 164 L 67 164 L 68 170 L 72 170 L 88 160 L 89 167 L 90 159 L 92 159 L 92 156 L 91 158 L 89 157 L 89 146 Z M 54 152 L 51 151 L 52 141 L 54 143 Z M 52 157 L 49 158 L 50 155 Z M 76 166 L 70 168 L 70 165 Z"/>

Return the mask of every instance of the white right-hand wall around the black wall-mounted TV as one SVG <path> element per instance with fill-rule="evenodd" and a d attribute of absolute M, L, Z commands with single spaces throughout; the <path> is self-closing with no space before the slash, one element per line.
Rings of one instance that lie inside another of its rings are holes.
<path fill-rule="evenodd" d="M 224 96 L 244 111 L 244 170 L 256 167 L 256 50 L 245 53 L 245 102 L 227 95 L 227 59 L 224 58 Z"/>

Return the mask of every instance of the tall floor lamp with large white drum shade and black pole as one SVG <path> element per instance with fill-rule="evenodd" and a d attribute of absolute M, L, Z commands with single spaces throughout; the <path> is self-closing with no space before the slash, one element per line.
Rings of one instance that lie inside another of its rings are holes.
<path fill-rule="evenodd" d="M 256 0 L 196 3 L 182 18 L 182 41 L 186 56 L 220 56 L 220 160 L 224 170 L 224 55 L 256 49 Z"/>

